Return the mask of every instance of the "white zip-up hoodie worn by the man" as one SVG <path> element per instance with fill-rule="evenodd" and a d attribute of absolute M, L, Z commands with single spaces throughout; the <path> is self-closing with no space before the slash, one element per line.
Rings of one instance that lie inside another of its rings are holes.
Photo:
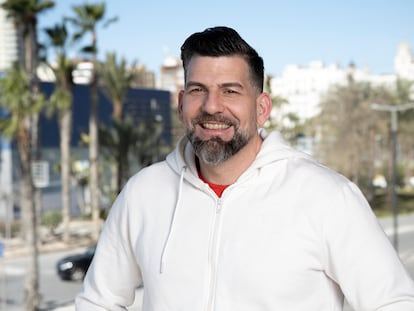
<path fill-rule="evenodd" d="M 358 188 L 267 135 L 218 198 L 183 138 L 130 179 L 76 298 L 79 311 L 414 310 L 414 283 Z"/>

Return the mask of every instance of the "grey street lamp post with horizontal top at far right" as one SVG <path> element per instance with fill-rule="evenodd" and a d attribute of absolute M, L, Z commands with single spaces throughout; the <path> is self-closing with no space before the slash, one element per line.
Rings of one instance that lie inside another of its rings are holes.
<path fill-rule="evenodd" d="M 378 111 L 388 111 L 391 116 L 391 148 L 392 148 L 392 166 L 391 166 L 391 205 L 393 214 L 393 245 L 398 252 L 398 207 L 397 207 L 397 133 L 398 133 L 398 112 L 405 111 L 414 108 L 414 103 L 408 103 L 403 105 L 379 105 L 372 104 L 371 108 Z"/>

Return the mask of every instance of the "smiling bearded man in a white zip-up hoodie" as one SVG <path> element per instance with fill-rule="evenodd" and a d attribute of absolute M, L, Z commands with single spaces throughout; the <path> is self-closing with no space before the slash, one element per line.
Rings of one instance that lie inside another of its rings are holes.
<path fill-rule="evenodd" d="M 78 310 L 414 310 L 414 284 L 357 187 L 261 130 L 263 61 L 214 27 L 181 48 L 186 137 L 112 207 Z"/>

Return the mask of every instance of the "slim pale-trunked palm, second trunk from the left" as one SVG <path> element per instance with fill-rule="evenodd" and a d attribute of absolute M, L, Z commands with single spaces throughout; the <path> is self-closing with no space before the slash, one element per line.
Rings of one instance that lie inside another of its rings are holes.
<path fill-rule="evenodd" d="M 57 118 L 60 130 L 61 151 L 61 183 L 62 183 L 62 221 L 63 241 L 70 239 L 70 176 L 71 176 L 71 144 L 72 133 L 72 101 L 73 101 L 73 63 L 66 57 L 68 44 L 68 32 L 64 23 L 46 28 L 50 46 L 56 50 L 56 67 L 53 71 L 56 76 L 56 88 L 50 97 L 50 110 L 57 110 Z"/>

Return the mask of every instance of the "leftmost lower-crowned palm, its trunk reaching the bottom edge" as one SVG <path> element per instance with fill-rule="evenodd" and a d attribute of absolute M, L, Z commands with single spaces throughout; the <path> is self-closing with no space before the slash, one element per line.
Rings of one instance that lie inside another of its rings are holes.
<path fill-rule="evenodd" d="M 43 106 L 42 98 L 33 102 L 30 82 L 25 72 L 15 65 L 0 80 L 2 94 L 0 106 L 8 111 L 8 118 L 0 121 L 0 132 L 17 139 L 20 160 L 20 205 L 23 211 L 24 237 L 30 249 L 30 264 L 25 284 L 25 310 L 37 310 L 39 306 L 39 267 L 37 248 L 37 215 L 33 202 L 31 173 L 32 144 L 30 140 L 30 118 Z"/>

